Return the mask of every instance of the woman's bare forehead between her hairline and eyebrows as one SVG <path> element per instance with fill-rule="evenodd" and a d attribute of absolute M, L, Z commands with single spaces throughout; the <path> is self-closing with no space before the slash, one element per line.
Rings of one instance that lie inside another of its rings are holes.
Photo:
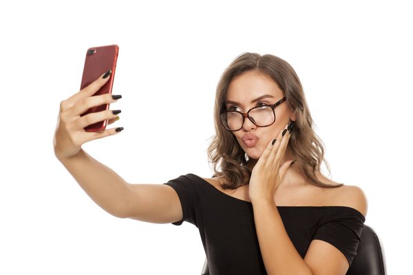
<path fill-rule="evenodd" d="M 251 71 L 234 78 L 229 83 L 226 100 L 248 104 L 251 100 L 268 94 L 279 99 L 284 96 L 278 84 L 266 74 Z"/>

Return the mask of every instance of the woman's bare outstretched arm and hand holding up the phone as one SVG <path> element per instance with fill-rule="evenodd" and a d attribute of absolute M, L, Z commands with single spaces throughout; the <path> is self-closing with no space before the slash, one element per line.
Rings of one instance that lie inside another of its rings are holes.
<path fill-rule="evenodd" d="M 182 219 L 182 208 L 173 188 L 163 184 L 128 184 L 114 170 L 101 164 L 81 148 L 85 142 L 120 132 L 121 128 L 102 132 L 84 130 L 85 126 L 102 120 L 112 123 L 118 116 L 117 112 L 111 110 L 81 116 L 91 107 L 116 102 L 110 94 L 92 96 L 108 79 L 101 76 L 61 102 L 54 135 L 56 157 L 87 195 L 110 214 L 151 223 L 179 221 Z"/>

